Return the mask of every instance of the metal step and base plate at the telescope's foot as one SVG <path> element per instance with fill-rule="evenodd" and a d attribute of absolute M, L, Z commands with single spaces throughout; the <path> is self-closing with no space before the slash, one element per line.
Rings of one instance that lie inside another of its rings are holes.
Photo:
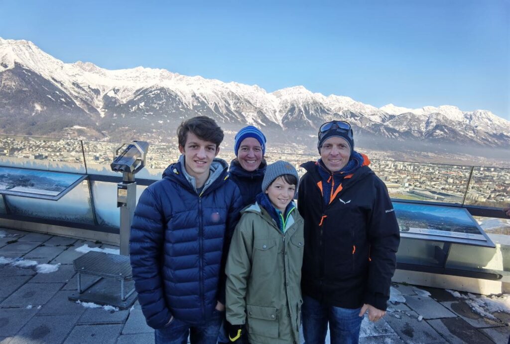
<path fill-rule="evenodd" d="M 90 251 L 73 261 L 78 273 L 78 290 L 69 300 L 130 308 L 137 298 L 129 256 Z M 82 276 L 93 277 L 88 286 Z"/>

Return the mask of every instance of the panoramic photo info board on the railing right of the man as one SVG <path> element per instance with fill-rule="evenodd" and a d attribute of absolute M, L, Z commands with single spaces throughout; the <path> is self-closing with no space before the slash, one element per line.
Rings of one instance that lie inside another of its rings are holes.
<path fill-rule="evenodd" d="M 400 236 L 495 247 L 465 208 L 393 202 Z"/>

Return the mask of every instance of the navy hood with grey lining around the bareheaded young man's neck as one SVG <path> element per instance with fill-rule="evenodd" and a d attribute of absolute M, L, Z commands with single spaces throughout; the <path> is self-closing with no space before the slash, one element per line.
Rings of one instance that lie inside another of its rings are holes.
<path fill-rule="evenodd" d="M 216 185 L 219 181 L 227 178 L 228 164 L 226 161 L 220 158 L 214 158 L 211 166 L 209 167 L 209 178 L 203 184 L 202 194 L 211 186 Z M 196 190 L 195 177 L 191 176 L 186 172 L 185 167 L 185 156 L 181 154 L 179 160 L 169 165 L 163 172 L 163 178 L 170 179 L 181 183 L 184 187 L 188 187 L 191 190 Z"/>

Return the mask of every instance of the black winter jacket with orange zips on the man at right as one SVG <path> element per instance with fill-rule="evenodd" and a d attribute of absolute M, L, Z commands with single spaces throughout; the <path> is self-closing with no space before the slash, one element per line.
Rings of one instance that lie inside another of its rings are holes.
<path fill-rule="evenodd" d="M 302 293 L 331 306 L 386 310 L 400 234 L 384 182 L 362 166 L 324 205 L 317 163 L 301 167 L 307 170 L 297 203 L 304 219 Z"/>

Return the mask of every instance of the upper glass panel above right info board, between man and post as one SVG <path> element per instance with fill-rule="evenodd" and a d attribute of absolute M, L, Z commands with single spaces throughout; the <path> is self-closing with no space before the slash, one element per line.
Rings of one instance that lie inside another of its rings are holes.
<path fill-rule="evenodd" d="M 390 197 L 462 204 L 471 167 L 373 160 L 372 170 L 388 188 Z"/>

